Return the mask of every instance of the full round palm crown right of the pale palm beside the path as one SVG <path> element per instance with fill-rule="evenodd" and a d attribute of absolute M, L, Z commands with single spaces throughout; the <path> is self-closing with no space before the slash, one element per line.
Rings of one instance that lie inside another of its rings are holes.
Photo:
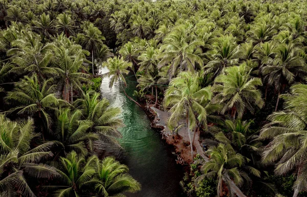
<path fill-rule="evenodd" d="M 217 93 L 213 102 L 225 103 L 222 113 L 231 110 L 233 119 L 236 113 L 241 119 L 246 109 L 254 112 L 253 103 L 259 108 L 264 105 L 261 92 L 256 88 L 262 85 L 261 80 L 250 76 L 251 70 L 246 64 L 229 67 L 225 72 L 215 78 L 216 84 L 212 87 L 212 91 Z"/>

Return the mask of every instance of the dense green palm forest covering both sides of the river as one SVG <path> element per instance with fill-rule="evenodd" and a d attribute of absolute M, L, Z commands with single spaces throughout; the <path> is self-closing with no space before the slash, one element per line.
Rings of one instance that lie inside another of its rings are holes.
<path fill-rule="evenodd" d="M 174 135 L 187 127 L 186 195 L 307 195 L 305 2 L 0 0 L 0 10 L 0 196 L 141 189 L 99 149 L 119 146 L 124 126 L 103 77 L 136 105 L 168 110 Z"/>

